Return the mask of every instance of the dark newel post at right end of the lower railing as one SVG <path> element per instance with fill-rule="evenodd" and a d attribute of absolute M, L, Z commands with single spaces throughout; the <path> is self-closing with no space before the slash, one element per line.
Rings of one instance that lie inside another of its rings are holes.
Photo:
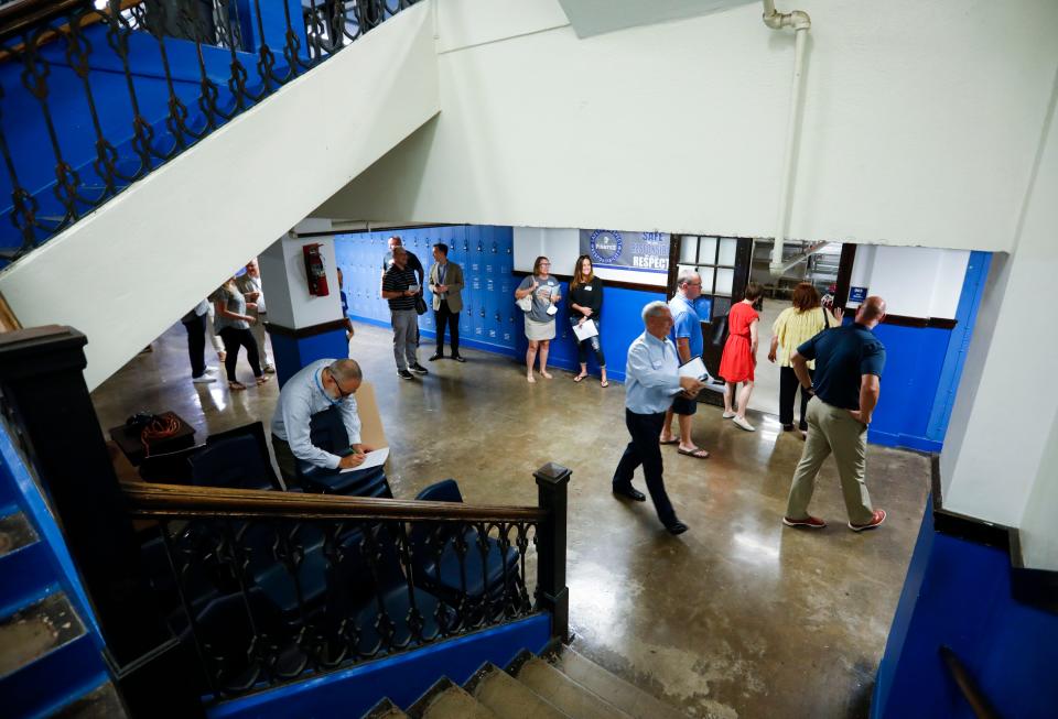
<path fill-rule="evenodd" d="M 548 462 L 533 472 L 540 509 L 548 518 L 537 529 L 538 606 L 551 612 L 551 640 L 569 644 L 570 589 L 565 586 L 565 510 L 566 488 L 572 472 L 561 465 Z"/>

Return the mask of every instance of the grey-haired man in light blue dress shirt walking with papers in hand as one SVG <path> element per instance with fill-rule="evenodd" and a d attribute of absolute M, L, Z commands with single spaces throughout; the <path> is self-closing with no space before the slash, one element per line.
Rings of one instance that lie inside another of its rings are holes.
<path fill-rule="evenodd" d="M 665 412 L 672 406 L 672 397 L 683 393 L 694 396 L 704 386 L 694 378 L 680 377 L 680 360 L 676 346 L 669 339 L 672 312 L 663 302 L 651 302 L 643 308 L 646 331 L 628 348 L 625 366 L 625 424 L 631 442 L 614 472 L 614 494 L 637 502 L 646 495 L 631 486 L 636 467 L 643 465 L 650 501 L 658 519 L 671 534 L 687 532 L 687 525 L 676 516 L 672 502 L 665 491 L 661 447 L 658 437 L 665 423 Z"/>

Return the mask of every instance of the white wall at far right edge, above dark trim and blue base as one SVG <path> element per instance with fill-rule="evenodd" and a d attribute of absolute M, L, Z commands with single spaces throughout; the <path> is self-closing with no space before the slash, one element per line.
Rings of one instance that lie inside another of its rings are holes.
<path fill-rule="evenodd" d="M 1056 101 L 1058 74 L 1015 249 L 990 277 L 941 455 L 946 506 L 1021 527 L 1035 553 L 1026 564 L 1051 568 L 1058 334 L 1040 331 L 1039 308 L 1058 276 Z"/>

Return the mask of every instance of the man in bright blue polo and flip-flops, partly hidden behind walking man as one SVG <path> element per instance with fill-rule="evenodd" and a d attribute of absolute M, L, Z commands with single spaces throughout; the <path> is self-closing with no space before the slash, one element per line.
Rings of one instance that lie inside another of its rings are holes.
<path fill-rule="evenodd" d="M 694 312 L 694 301 L 702 294 L 702 277 L 693 270 L 680 270 L 676 277 L 676 294 L 669 301 L 672 311 L 672 342 L 679 352 L 680 363 L 689 362 L 694 357 L 702 356 L 705 345 L 702 338 L 702 320 Z M 691 417 L 698 411 L 698 399 L 687 395 L 677 395 L 672 406 L 665 413 L 665 426 L 658 439 L 662 445 L 678 444 L 681 455 L 705 459 L 709 453 L 694 445 L 691 439 Z M 679 417 L 680 438 L 672 436 L 672 415 Z"/>

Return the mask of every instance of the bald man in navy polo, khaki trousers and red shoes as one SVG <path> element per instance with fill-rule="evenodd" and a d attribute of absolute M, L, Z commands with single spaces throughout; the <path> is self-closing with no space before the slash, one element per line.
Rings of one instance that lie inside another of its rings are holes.
<path fill-rule="evenodd" d="M 824 329 L 797 348 L 790 362 L 801 386 L 814 394 L 808 404 L 808 438 L 794 473 L 787 500 L 787 526 L 819 530 L 827 523 L 808 513 L 816 475 L 831 451 L 841 477 L 841 493 L 849 511 L 849 529 L 873 530 L 885 521 L 885 510 L 871 506 L 863 480 L 866 466 L 867 425 L 882 393 L 885 347 L 874 336 L 885 317 L 885 301 L 867 297 L 855 322 Z M 816 383 L 808 374 L 808 360 L 816 360 Z"/>

